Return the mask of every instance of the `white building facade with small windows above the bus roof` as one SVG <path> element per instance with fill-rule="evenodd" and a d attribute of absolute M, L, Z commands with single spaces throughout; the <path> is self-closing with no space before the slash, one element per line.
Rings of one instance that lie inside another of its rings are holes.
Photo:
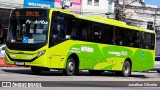
<path fill-rule="evenodd" d="M 114 0 L 83 0 L 81 12 L 84 15 L 114 18 Z"/>

